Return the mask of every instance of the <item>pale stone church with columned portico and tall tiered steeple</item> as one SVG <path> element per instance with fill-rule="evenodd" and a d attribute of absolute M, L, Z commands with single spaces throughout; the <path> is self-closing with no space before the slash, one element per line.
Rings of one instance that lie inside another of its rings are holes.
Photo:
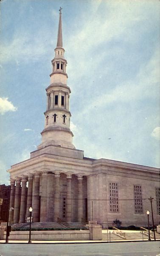
<path fill-rule="evenodd" d="M 51 83 L 46 88 L 47 109 L 42 143 L 30 159 L 14 164 L 10 173 L 9 222 L 25 223 L 29 207 L 33 222 L 84 222 L 94 220 L 103 227 L 117 218 L 124 225 L 147 223 L 146 211 L 159 223 L 159 169 L 108 159 L 84 157 L 76 149 L 70 131 L 67 60 L 62 44 L 62 14 Z M 12 207 L 12 208 L 11 208 Z"/>

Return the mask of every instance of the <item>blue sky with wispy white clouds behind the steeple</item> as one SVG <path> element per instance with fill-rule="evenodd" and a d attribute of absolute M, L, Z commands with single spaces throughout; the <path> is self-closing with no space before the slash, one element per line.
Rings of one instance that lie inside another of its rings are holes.
<path fill-rule="evenodd" d="M 62 7 L 73 144 L 160 167 L 158 0 L 3 0 L 0 183 L 41 143 Z"/>

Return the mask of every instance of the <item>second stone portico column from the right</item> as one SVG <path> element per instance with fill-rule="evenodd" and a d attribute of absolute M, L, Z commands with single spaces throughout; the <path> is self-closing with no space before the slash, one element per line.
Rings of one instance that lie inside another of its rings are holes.
<path fill-rule="evenodd" d="M 66 200 L 66 221 L 72 221 L 72 200 L 71 200 L 72 174 L 67 173 L 67 200 Z"/>

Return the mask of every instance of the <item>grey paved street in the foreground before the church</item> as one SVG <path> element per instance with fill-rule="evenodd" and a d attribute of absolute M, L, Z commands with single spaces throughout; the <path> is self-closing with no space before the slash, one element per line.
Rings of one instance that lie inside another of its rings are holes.
<path fill-rule="evenodd" d="M 0 256 L 160 256 L 160 242 L 0 244 Z"/>

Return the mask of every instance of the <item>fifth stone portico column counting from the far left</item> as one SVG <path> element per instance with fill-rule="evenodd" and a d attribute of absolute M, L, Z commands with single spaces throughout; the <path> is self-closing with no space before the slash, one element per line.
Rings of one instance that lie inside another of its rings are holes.
<path fill-rule="evenodd" d="M 39 180 L 40 175 L 36 174 L 34 175 L 33 180 L 33 193 L 32 193 L 32 216 L 33 221 L 38 222 L 39 221 Z"/>

